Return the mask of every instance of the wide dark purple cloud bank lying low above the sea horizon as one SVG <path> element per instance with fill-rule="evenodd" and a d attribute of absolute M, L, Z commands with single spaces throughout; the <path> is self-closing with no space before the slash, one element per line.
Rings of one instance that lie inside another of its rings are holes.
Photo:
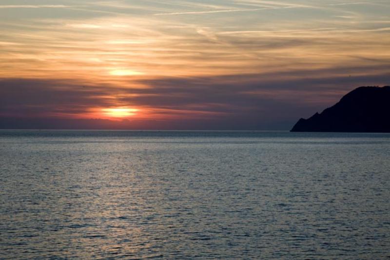
<path fill-rule="evenodd" d="M 62 125 L 60 119 L 82 119 L 87 124 L 99 119 L 90 115 L 91 109 L 127 106 L 140 108 L 144 115 L 132 118 L 132 124 L 117 123 L 112 126 L 115 129 L 119 125 L 166 129 L 171 123 L 181 129 L 213 125 L 213 129 L 283 130 L 298 118 L 322 111 L 355 87 L 388 85 L 389 72 L 383 66 L 361 66 L 137 80 L 144 88 L 86 85 L 69 79 L 1 79 L 0 118 L 3 122 L 47 119 L 46 124 L 55 121 L 56 125 Z M 234 122 L 240 122 L 240 127 Z"/>

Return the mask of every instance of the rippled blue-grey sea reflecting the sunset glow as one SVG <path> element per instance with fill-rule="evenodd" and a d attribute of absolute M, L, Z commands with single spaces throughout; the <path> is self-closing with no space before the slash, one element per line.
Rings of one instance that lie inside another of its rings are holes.
<path fill-rule="evenodd" d="M 0 131 L 0 259 L 389 259 L 390 135 Z"/>

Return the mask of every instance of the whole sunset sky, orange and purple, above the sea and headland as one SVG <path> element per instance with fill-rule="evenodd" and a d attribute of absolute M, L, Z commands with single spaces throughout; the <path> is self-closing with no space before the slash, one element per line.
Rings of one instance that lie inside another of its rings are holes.
<path fill-rule="evenodd" d="M 0 128 L 289 130 L 390 85 L 389 0 L 1 0 Z"/>

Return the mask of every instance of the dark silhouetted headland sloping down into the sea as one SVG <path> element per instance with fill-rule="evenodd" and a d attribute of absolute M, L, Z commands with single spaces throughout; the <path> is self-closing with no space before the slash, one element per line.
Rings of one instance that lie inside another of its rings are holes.
<path fill-rule="evenodd" d="M 300 119 L 292 132 L 390 132 L 390 86 L 359 87 L 338 103 Z"/>

